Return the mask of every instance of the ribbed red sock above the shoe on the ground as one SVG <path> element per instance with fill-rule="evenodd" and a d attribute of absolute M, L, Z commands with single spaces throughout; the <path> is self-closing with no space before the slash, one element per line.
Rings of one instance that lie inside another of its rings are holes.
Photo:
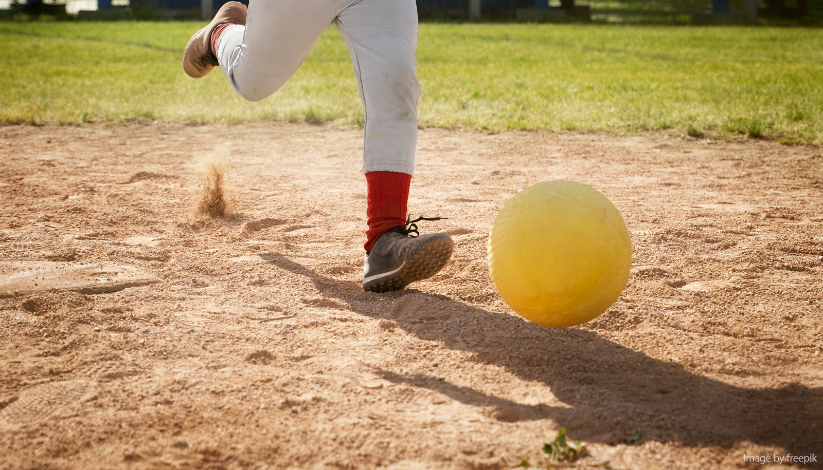
<path fill-rule="evenodd" d="M 369 252 L 380 235 L 406 223 L 406 205 L 412 175 L 369 172 L 365 173 L 365 181 L 369 187 L 369 199 L 365 210 L 369 230 L 365 233 L 368 241 L 363 247 Z"/>

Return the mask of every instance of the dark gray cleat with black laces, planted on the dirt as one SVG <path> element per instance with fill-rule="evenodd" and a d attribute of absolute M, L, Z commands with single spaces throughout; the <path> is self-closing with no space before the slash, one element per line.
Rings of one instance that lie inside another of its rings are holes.
<path fill-rule="evenodd" d="M 375 293 L 396 291 L 442 270 L 454 251 L 445 233 L 419 235 L 415 219 L 381 235 L 365 258 L 363 289 Z M 416 235 L 412 236 L 412 233 Z"/>

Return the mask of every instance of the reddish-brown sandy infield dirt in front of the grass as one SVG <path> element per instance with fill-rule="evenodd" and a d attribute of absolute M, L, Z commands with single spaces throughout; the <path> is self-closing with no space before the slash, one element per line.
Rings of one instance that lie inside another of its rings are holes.
<path fill-rule="evenodd" d="M 303 124 L 0 128 L 0 260 L 162 280 L 0 299 L 0 468 L 545 466 L 560 427 L 583 468 L 823 468 L 823 150 L 422 130 L 410 210 L 455 253 L 388 294 L 360 288 L 360 151 Z M 220 155 L 233 214 L 193 215 Z M 487 268 L 504 202 L 551 179 L 634 245 L 578 328 L 522 320 Z"/>

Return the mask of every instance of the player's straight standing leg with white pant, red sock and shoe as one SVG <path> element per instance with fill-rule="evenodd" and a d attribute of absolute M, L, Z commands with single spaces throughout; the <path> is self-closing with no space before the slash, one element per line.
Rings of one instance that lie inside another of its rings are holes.
<path fill-rule="evenodd" d="M 445 233 L 406 224 L 417 145 L 414 0 L 361 0 L 335 20 L 346 40 L 365 111 L 363 173 L 369 186 L 369 240 L 363 288 L 386 292 L 435 275 L 453 251 Z M 416 222 L 416 221 L 414 221 Z"/>

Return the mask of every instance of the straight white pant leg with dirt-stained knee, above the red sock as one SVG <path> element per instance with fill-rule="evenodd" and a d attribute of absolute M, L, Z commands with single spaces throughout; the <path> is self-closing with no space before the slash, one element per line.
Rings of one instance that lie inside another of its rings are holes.
<path fill-rule="evenodd" d="M 414 173 L 417 145 L 414 0 L 361 0 L 337 18 L 365 111 L 363 173 Z"/>

